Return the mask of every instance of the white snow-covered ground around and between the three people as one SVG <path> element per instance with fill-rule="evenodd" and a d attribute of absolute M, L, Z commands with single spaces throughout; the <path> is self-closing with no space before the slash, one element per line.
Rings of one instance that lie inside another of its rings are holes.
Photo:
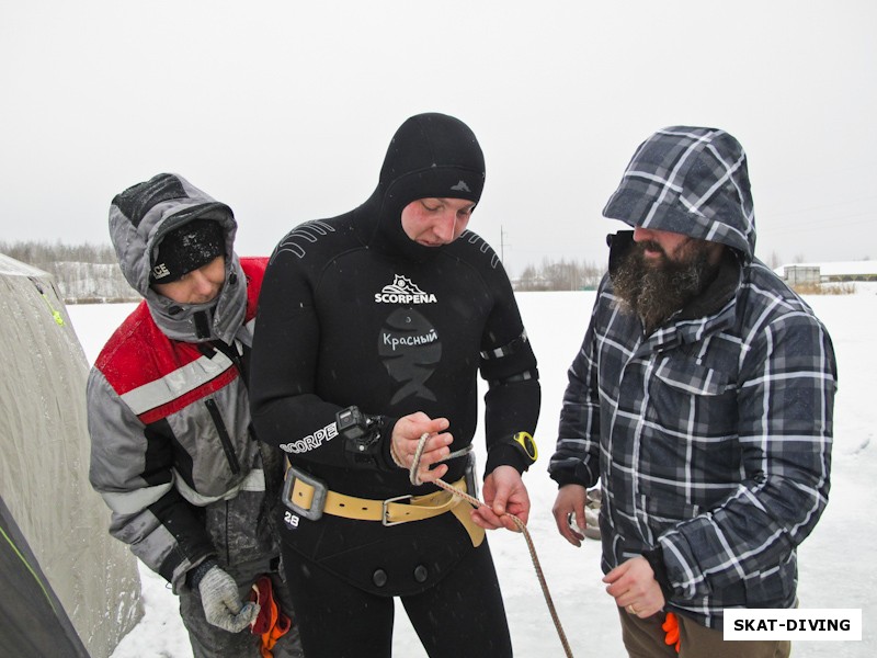
<path fill-rule="evenodd" d="M 831 501 L 813 534 L 801 545 L 800 608 L 852 608 L 863 611 L 862 642 L 797 642 L 796 657 L 864 657 L 877 654 L 877 404 L 874 373 L 877 350 L 877 284 L 857 284 L 855 295 L 811 296 L 807 300 L 827 325 L 838 354 L 840 390 L 835 404 L 835 447 Z M 556 487 L 545 467 L 553 452 L 566 371 L 590 315 L 594 293 L 524 293 L 519 302 L 539 360 L 543 410 L 537 431 L 542 457 L 525 481 L 533 510 L 529 532 L 572 651 L 577 657 L 623 658 L 619 624 L 605 593 L 599 567 L 600 545 L 586 541 L 573 548 L 561 540 L 550 513 Z M 70 306 L 73 326 L 89 362 L 132 304 Z M 481 441 L 482 442 L 482 441 Z M 481 449 L 483 450 L 483 449 Z M 483 454 L 480 464 L 483 464 Z M 502 582 L 515 655 L 562 656 L 522 536 L 498 531 L 489 535 Z M 176 613 L 176 599 L 164 581 L 140 569 L 146 616 L 119 644 L 113 658 L 190 658 L 187 637 Z M 425 653 L 405 612 L 398 608 L 395 655 L 423 658 Z M 468 658 L 462 656 L 460 658 Z"/>

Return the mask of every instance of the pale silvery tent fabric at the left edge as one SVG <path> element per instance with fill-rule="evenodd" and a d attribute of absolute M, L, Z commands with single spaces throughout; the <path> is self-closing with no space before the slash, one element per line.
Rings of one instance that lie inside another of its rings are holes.
<path fill-rule="evenodd" d="M 88 363 L 52 277 L 3 254 L 0 317 L 0 498 L 46 591 L 57 594 L 89 655 L 107 658 L 143 606 L 136 558 L 109 535 L 109 511 L 88 481 Z M 4 626 L 19 619 L 15 605 L 0 597 Z M 41 654 L 25 647 L 12 655 Z"/>

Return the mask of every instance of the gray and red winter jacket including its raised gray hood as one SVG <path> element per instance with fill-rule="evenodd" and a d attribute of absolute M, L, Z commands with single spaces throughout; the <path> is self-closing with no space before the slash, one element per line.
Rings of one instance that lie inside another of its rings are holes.
<path fill-rule="evenodd" d="M 212 303 L 180 305 L 149 287 L 149 254 L 196 216 L 224 226 L 226 283 Z M 146 299 L 89 375 L 90 479 L 112 510 L 111 534 L 176 590 L 215 552 L 198 508 L 264 490 L 243 363 L 266 260 L 239 259 L 231 211 L 173 174 L 116 196 L 110 225 Z"/>

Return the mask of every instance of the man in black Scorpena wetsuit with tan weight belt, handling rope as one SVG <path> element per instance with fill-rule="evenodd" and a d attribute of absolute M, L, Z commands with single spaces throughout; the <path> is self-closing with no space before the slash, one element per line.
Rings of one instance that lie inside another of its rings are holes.
<path fill-rule="evenodd" d="M 413 116 L 363 205 L 297 226 L 271 258 L 251 400 L 259 436 L 291 464 L 281 533 L 309 658 L 390 656 L 394 597 L 433 658 L 512 655 L 485 529 L 527 520 L 539 384 L 509 277 L 466 229 L 483 182 L 468 126 Z M 479 370 L 474 509 L 432 483 L 472 492 Z"/>

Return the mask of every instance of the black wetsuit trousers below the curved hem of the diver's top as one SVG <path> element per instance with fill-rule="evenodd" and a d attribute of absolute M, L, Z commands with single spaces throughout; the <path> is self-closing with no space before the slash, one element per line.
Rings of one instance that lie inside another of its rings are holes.
<path fill-rule="evenodd" d="M 365 592 L 300 554 L 283 551 L 307 658 L 391 656 L 392 597 Z M 505 608 L 487 542 L 436 585 L 400 600 L 431 658 L 511 657 Z"/>

